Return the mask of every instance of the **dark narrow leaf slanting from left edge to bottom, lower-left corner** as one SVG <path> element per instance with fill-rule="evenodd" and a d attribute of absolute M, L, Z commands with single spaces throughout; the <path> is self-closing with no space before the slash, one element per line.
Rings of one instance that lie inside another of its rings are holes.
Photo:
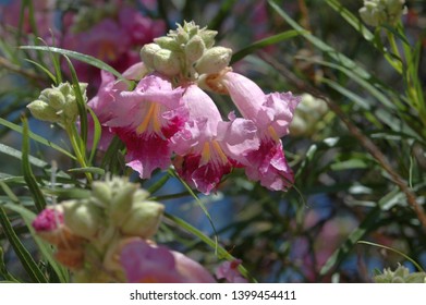
<path fill-rule="evenodd" d="M 8 236 L 9 242 L 11 243 L 16 256 L 20 258 L 22 266 L 28 273 L 29 278 L 34 282 L 47 283 L 47 279 L 42 274 L 41 270 L 38 268 L 37 264 L 34 261 L 28 251 L 21 243 L 20 237 L 13 230 L 13 227 L 9 221 L 8 215 L 2 207 L 0 207 L 0 223 L 3 228 L 4 234 Z"/>

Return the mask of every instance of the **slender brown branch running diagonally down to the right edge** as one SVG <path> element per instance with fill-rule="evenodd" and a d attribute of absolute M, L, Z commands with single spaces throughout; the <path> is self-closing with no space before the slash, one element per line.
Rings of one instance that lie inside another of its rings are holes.
<path fill-rule="evenodd" d="M 265 52 L 259 53 L 259 56 L 263 60 L 265 60 L 267 63 L 269 63 L 275 69 L 277 69 L 277 71 L 279 71 L 283 76 L 285 76 L 291 83 L 293 83 L 293 85 L 295 85 L 301 91 L 309 93 L 311 95 L 320 98 L 327 102 L 328 107 L 346 125 L 350 133 L 354 137 L 356 137 L 356 139 L 361 143 L 361 145 L 364 146 L 364 148 L 366 148 L 367 151 L 380 163 L 382 169 L 391 176 L 392 181 L 398 185 L 401 192 L 405 194 L 409 205 L 416 213 L 422 225 L 426 229 L 426 213 L 422 208 L 422 206 L 417 204 L 417 198 L 414 192 L 410 188 L 405 180 L 392 168 L 387 157 L 380 151 L 380 149 L 376 146 L 376 144 L 374 144 L 370 138 L 365 136 L 361 132 L 361 130 L 355 124 L 353 124 L 351 120 L 349 120 L 349 118 L 340 108 L 340 106 L 319 89 L 297 78 L 291 71 L 289 71 L 283 64 L 278 62 L 271 56 Z"/>

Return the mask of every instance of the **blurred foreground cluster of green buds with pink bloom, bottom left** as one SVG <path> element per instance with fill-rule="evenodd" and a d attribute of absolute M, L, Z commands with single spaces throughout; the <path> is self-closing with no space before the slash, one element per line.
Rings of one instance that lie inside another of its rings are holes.
<path fill-rule="evenodd" d="M 163 206 L 148 196 L 125 179 L 97 181 L 87 198 L 45 209 L 33 227 L 77 282 L 214 282 L 198 263 L 151 241 Z"/>

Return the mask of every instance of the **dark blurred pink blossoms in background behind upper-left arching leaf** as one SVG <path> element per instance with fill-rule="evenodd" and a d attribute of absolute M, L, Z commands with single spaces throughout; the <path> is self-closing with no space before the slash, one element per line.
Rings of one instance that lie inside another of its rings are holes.
<path fill-rule="evenodd" d="M 75 33 L 74 15 L 66 15 L 62 48 L 93 56 L 119 72 L 141 61 L 139 49 L 166 32 L 163 21 L 144 16 L 136 8 L 117 3 L 117 17 L 106 16 L 88 29 Z M 81 61 L 73 61 L 81 82 L 98 87 L 99 70 Z M 68 71 L 68 66 L 64 65 Z"/>

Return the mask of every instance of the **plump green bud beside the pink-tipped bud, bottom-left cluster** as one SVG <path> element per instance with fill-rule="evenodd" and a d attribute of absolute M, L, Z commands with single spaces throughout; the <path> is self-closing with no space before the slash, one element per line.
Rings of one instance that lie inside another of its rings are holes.
<path fill-rule="evenodd" d="M 69 200 L 63 206 L 63 220 L 65 225 L 75 235 L 93 240 L 102 225 L 101 210 L 89 200 Z"/>

